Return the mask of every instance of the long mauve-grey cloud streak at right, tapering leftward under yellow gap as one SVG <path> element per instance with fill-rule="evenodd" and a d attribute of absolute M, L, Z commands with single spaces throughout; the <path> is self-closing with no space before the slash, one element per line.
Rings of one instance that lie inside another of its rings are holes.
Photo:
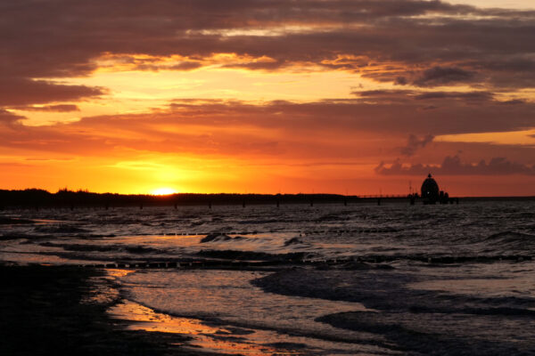
<path fill-rule="evenodd" d="M 502 105 L 490 101 L 486 105 L 471 105 L 465 101 L 450 101 L 438 109 L 422 110 L 420 101 L 404 100 L 336 100 L 295 103 L 272 101 L 251 105 L 239 101 L 192 102 L 173 104 L 177 115 L 186 121 L 207 120 L 212 125 L 235 122 L 260 127 L 284 127 L 295 132 L 312 130 L 369 131 L 417 135 L 466 134 L 504 132 L 535 125 L 535 104 Z M 194 116 L 192 116 L 194 114 Z M 197 117 L 197 118 L 193 118 Z M 504 119 L 507 117 L 507 119 Z"/>

